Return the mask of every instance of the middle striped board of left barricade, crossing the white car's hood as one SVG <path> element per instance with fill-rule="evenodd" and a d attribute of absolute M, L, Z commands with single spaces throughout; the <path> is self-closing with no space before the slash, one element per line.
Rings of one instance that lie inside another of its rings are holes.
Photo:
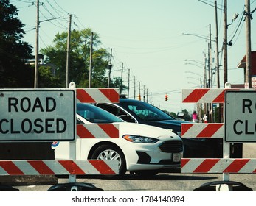
<path fill-rule="evenodd" d="M 119 124 L 77 124 L 77 138 L 119 138 Z"/>

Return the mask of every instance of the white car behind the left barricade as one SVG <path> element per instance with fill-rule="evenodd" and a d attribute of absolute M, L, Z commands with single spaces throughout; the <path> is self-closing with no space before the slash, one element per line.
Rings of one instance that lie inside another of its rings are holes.
<path fill-rule="evenodd" d="M 119 160 L 119 174 L 134 171 L 155 175 L 162 168 L 179 168 L 183 143 L 179 135 L 167 129 L 133 124 L 92 104 L 77 104 L 79 124 L 118 124 L 120 138 L 77 138 L 77 160 Z M 69 142 L 61 141 L 55 159 L 69 159 Z"/>

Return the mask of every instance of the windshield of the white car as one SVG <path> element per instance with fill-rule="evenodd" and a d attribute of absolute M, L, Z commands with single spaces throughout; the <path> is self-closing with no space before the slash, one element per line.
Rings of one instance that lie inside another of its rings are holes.
<path fill-rule="evenodd" d="M 77 114 L 91 123 L 122 122 L 122 119 L 92 104 L 77 103 Z"/>

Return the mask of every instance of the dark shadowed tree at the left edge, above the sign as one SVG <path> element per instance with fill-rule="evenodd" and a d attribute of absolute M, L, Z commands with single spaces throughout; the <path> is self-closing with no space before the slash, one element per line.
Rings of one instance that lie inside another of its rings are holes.
<path fill-rule="evenodd" d="M 21 41 L 24 24 L 9 0 L 0 2 L 0 88 L 32 88 L 33 70 L 26 64 L 32 46 Z"/>

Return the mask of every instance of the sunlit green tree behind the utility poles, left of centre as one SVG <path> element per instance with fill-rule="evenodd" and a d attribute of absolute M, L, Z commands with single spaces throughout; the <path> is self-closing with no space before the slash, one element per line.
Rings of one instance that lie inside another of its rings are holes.
<path fill-rule="evenodd" d="M 66 85 L 66 48 L 67 32 L 58 33 L 53 40 L 54 46 L 41 49 L 45 54 L 46 63 L 56 66 L 56 76 L 63 87 Z M 70 69 L 69 79 L 77 84 L 77 87 L 87 88 L 89 85 L 89 60 L 90 60 L 91 29 L 82 31 L 73 30 L 70 41 Z M 94 33 L 93 40 L 93 68 L 91 87 L 106 87 L 108 79 L 105 77 L 108 68 L 108 52 L 100 47 L 99 35 Z"/>

